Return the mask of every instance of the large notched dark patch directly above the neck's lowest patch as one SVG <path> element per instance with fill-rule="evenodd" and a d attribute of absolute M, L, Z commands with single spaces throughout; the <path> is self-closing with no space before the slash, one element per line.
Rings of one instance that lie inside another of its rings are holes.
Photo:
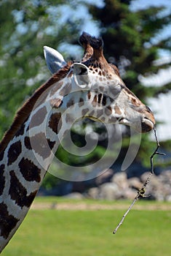
<path fill-rule="evenodd" d="M 9 187 L 9 195 L 11 196 L 12 200 L 15 200 L 18 206 L 23 208 L 24 206 L 29 207 L 33 202 L 34 197 L 36 196 L 37 190 L 31 192 L 30 195 L 27 195 L 28 192 L 23 187 L 23 185 L 18 180 L 17 176 L 15 175 L 15 171 L 10 171 L 10 187 Z"/>

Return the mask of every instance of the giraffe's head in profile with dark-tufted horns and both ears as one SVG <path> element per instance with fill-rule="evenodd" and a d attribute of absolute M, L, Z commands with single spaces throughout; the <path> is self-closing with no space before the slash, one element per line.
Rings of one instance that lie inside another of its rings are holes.
<path fill-rule="evenodd" d="M 69 71 L 74 91 L 89 91 L 88 99 L 95 108 L 93 115 L 85 116 L 105 123 L 126 124 L 138 132 L 149 132 L 154 128 L 155 119 L 151 110 L 125 86 L 114 64 L 103 56 L 103 41 L 83 33 L 80 43 L 84 57 L 73 63 Z M 49 69 L 63 67 L 63 56 L 51 48 L 44 48 Z M 99 112 L 103 108 L 103 114 Z"/>

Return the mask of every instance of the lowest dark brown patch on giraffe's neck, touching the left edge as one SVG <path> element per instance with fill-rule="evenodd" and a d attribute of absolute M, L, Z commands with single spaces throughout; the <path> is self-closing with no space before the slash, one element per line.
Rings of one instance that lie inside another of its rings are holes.
<path fill-rule="evenodd" d="M 17 225 L 19 219 L 9 214 L 7 206 L 0 203 L 0 235 L 7 239 L 11 230 Z"/>

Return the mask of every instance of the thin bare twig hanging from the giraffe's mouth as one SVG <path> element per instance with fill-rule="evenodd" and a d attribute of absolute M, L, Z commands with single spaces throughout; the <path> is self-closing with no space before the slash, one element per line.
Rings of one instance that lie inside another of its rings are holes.
<path fill-rule="evenodd" d="M 154 174 L 154 156 L 156 154 L 160 154 L 160 155 L 165 155 L 164 153 L 161 153 L 161 152 L 158 152 L 158 149 L 159 149 L 159 140 L 156 136 L 156 129 L 154 128 L 154 136 L 155 136 L 155 139 L 156 139 L 156 149 L 154 150 L 154 153 L 151 154 L 151 157 L 150 157 L 150 162 L 151 162 L 151 172 L 149 173 L 148 175 L 148 178 L 146 178 L 146 181 L 144 182 L 143 184 L 143 187 L 141 187 L 141 189 L 138 189 L 138 192 L 137 192 L 137 195 L 135 196 L 134 200 L 132 201 L 130 207 L 127 209 L 127 211 L 125 212 L 125 214 L 123 215 L 121 221 L 119 222 L 119 224 L 117 225 L 116 229 L 113 231 L 114 234 L 116 234 L 117 230 L 119 229 L 119 227 L 122 225 L 122 223 L 124 222 L 124 219 L 125 217 L 127 217 L 127 214 L 130 212 L 130 210 L 132 209 L 132 207 L 134 206 L 134 204 L 136 203 L 136 201 L 139 199 L 139 198 L 142 198 L 142 197 L 148 197 L 147 195 L 145 195 L 145 192 L 146 192 L 146 186 L 147 184 L 149 183 L 150 181 L 150 178 L 151 176 Z"/>

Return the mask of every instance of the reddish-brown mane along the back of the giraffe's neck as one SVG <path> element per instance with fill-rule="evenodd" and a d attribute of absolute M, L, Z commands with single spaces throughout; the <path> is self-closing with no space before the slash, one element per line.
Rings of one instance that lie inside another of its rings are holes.
<path fill-rule="evenodd" d="M 71 67 L 72 62 L 69 61 L 65 67 L 60 69 L 58 72 L 56 72 L 54 75 L 52 75 L 49 80 L 47 80 L 46 83 L 44 83 L 42 86 L 40 86 L 36 91 L 33 93 L 33 95 L 26 100 L 26 102 L 23 104 L 23 106 L 17 110 L 17 113 L 15 114 L 14 121 L 12 122 L 11 127 L 5 132 L 4 137 L 2 138 L 0 142 L 0 153 L 4 150 L 4 148 L 7 147 L 8 143 L 12 138 L 15 136 L 18 129 L 20 129 L 21 125 L 24 123 L 24 121 L 28 118 L 29 114 L 33 110 L 33 107 L 41 96 L 41 94 L 49 88 L 49 86 L 52 86 L 52 84 L 57 83 L 58 81 L 65 78 L 65 76 L 68 74 L 68 70 Z"/>

